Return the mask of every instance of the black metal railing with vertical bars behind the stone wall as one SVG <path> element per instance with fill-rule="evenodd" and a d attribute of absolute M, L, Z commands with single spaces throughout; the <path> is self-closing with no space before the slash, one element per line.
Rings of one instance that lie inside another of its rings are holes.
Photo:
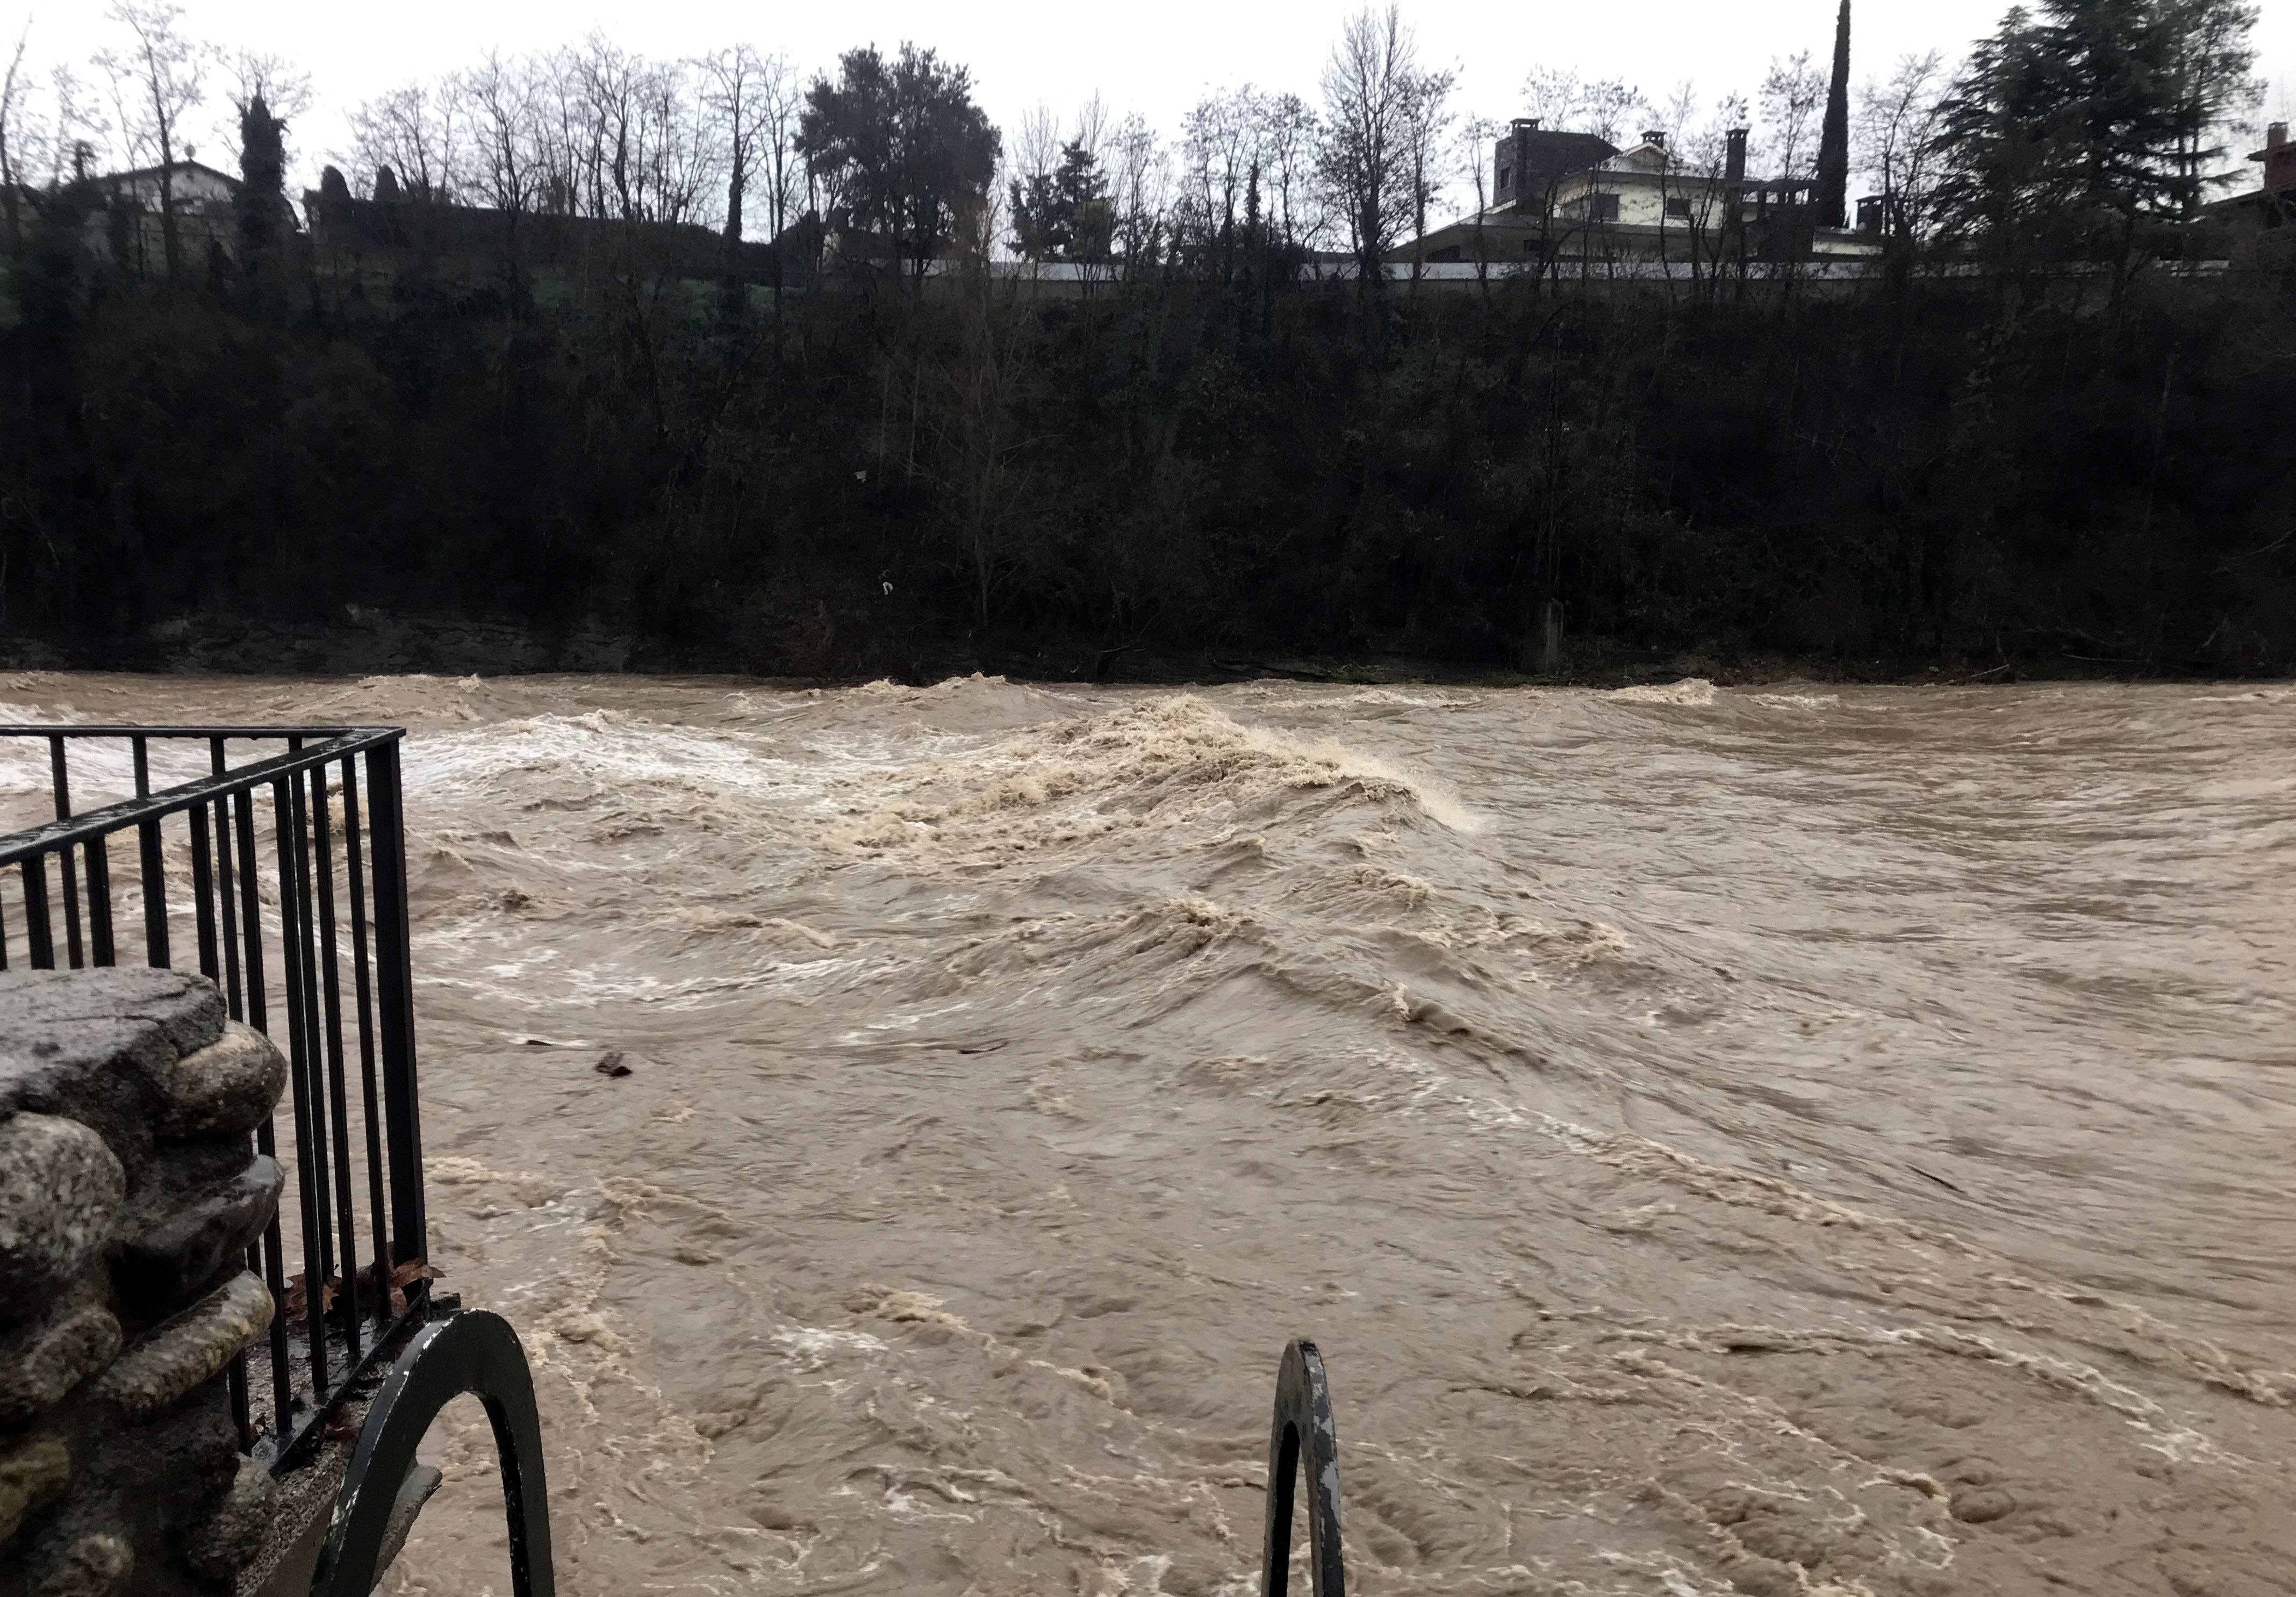
<path fill-rule="evenodd" d="M 230 1374 L 241 1446 L 273 1469 L 427 1299 L 402 737 L 0 725 L 0 753 L 46 741 L 48 794 L 34 801 L 53 808 L 0 838 L 0 971 L 119 964 L 119 927 L 140 918 L 129 961 L 177 966 L 195 950 L 232 1019 L 287 1055 L 292 1127 L 264 1122 L 255 1150 L 292 1179 L 248 1251 L 278 1312 L 269 1347 Z M 234 764 L 248 743 L 282 753 Z M 154 764 L 172 785 L 154 789 Z M 113 844 L 129 838 L 135 886 L 122 893 Z"/>

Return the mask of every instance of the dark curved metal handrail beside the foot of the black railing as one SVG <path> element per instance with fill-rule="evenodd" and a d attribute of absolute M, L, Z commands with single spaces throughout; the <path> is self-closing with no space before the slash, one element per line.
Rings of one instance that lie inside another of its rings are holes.
<path fill-rule="evenodd" d="M 455 1397 L 475 1393 L 494 1420 L 503 1459 L 503 1508 L 510 1517 L 510 1590 L 553 1597 L 551 1512 L 542 1482 L 542 1420 L 526 1349 L 501 1315 L 466 1310 L 422 1326 L 400 1354 L 367 1409 L 351 1469 L 335 1496 L 335 1519 L 312 1572 L 312 1597 L 367 1597 L 381 1569 L 383 1530 L 416 1443 Z"/>

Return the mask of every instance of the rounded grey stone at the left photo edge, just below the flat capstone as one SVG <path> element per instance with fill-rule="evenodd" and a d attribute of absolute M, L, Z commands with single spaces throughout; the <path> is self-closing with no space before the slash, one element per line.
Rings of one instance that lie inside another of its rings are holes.
<path fill-rule="evenodd" d="M 57 1115 L 0 1122 L 0 1317 L 46 1308 L 110 1239 L 124 1198 L 119 1159 L 87 1127 Z"/>

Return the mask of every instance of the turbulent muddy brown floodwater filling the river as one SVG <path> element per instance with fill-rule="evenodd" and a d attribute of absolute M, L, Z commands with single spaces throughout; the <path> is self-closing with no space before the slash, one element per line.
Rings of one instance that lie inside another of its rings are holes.
<path fill-rule="evenodd" d="M 563 1592 L 2289 1590 L 2296 691 L 0 688 L 413 727 Z"/>

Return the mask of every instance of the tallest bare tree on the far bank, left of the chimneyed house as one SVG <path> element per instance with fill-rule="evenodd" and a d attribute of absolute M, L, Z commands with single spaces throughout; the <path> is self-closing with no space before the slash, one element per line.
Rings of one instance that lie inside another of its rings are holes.
<path fill-rule="evenodd" d="M 1412 216 L 1410 115 L 1419 48 L 1403 11 L 1357 11 L 1322 69 L 1322 170 L 1366 285 Z"/>

